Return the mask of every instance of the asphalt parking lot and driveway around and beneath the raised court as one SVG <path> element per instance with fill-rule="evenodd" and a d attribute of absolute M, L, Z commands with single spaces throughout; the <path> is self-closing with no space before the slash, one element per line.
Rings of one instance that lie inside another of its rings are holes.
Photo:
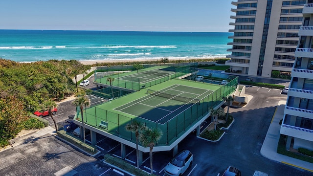
<path fill-rule="evenodd" d="M 179 143 L 178 151 L 186 149 L 194 155 L 192 166 L 183 176 L 217 176 L 228 166 L 240 169 L 243 176 L 252 175 L 255 170 L 266 172 L 269 176 L 311 176 L 310 172 L 269 160 L 260 154 L 275 108 L 279 101 L 286 101 L 287 95 L 281 94 L 281 90 L 278 89 L 258 87 L 247 87 L 246 94 L 253 98 L 244 108 L 230 108 L 229 112 L 235 121 L 219 142 L 202 140 L 192 132 Z M 97 100 L 94 99 L 94 102 Z M 57 121 L 75 114 L 75 107 L 70 101 L 59 106 Z M 209 120 L 203 123 L 201 130 L 208 125 Z M 87 135 L 86 139 L 90 140 L 90 136 Z M 97 146 L 101 153 L 91 157 L 76 151 L 53 136 L 31 137 L 21 146 L 6 150 L 5 153 L 1 152 L 3 156 L 1 163 L 10 160 L 9 158 L 15 159 L 0 167 L 0 175 L 53 175 L 67 166 L 77 171 L 79 175 L 119 175 L 114 168 L 101 161 L 104 154 L 120 157 L 120 144 L 97 135 Z M 126 147 L 126 153 L 125 160 L 135 165 L 135 150 Z M 163 174 L 172 156 L 173 151 L 154 153 L 153 168 L 156 175 Z M 144 153 L 143 158 L 141 169 L 150 172 L 149 154 Z"/>

